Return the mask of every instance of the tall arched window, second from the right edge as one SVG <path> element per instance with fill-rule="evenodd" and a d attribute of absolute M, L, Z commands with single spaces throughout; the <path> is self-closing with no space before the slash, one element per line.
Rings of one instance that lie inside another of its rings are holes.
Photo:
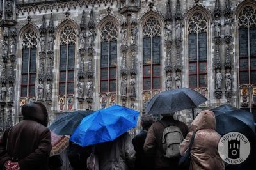
<path fill-rule="evenodd" d="M 189 88 L 207 87 L 207 21 L 196 12 L 189 19 Z"/>

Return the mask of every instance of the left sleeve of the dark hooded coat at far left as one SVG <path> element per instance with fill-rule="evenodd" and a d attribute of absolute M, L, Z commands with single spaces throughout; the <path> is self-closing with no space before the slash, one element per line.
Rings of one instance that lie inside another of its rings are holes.
<path fill-rule="evenodd" d="M 6 151 L 7 138 L 10 128 L 6 130 L 3 136 L 0 138 L 0 169 L 3 169 L 4 164 L 7 160 L 10 160 L 11 157 Z"/>

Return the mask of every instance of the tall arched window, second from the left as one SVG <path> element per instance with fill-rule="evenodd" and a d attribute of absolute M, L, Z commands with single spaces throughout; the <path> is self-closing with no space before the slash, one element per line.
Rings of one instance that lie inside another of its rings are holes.
<path fill-rule="evenodd" d="M 60 33 L 60 81 L 59 95 L 74 94 L 74 63 L 76 33 L 65 26 Z"/>

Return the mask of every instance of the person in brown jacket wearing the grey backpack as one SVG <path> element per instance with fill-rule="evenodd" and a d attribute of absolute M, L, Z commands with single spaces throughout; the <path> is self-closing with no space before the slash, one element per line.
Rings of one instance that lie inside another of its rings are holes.
<path fill-rule="evenodd" d="M 164 157 L 164 150 L 162 146 L 162 135 L 164 128 L 168 127 L 171 123 L 180 128 L 183 137 L 189 132 L 188 126 L 178 120 L 174 120 L 172 114 L 161 114 L 163 118 L 161 121 L 156 121 L 151 125 L 148 130 L 148 134 L 144 143 L 144 152 L 148 155 L 155 155 L 155 169 L 157 170 L 170 170 L 179 169 L 177 158 L 166 158 Z M 164 127 L 165 126 L 165 127 Z"/>

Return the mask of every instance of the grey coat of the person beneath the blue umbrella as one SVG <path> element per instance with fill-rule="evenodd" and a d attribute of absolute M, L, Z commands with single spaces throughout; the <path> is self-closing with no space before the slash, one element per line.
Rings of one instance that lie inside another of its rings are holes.
<path fill-rule="evenodd" d="M 100 170 L 134 169 L 135 150 L 128 132 L 114 141 L 97 144 L 96 154 Z"/>

